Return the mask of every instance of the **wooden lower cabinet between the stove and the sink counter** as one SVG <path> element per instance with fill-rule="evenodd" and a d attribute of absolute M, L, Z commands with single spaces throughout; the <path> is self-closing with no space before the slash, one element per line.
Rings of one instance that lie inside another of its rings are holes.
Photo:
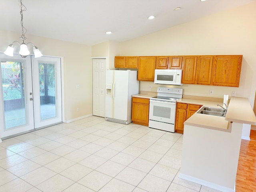
<path fill-rule="evenodd" d="M 177 102 L 175 116 L 175 132 L 183 134 L 184 122 L 201 107 L 202 105 Z"/>

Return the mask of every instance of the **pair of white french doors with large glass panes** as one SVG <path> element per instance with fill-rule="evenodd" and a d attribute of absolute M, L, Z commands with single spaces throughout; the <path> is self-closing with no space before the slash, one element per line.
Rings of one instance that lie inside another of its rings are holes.
<path fill-rule="evenodd" d="M 0 138 L 62 122 L 60 58 L 0 59 Z"/>

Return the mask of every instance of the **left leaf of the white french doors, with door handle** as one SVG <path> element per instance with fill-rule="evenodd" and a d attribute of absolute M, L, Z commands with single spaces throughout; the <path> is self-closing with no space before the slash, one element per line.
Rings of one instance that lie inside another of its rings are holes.
<path fill-rule="evenodd" d="M 34 129 L 33 91 L 30 56 L 0 53 L 0 59 L 0 138 L 4 138 Z"/>

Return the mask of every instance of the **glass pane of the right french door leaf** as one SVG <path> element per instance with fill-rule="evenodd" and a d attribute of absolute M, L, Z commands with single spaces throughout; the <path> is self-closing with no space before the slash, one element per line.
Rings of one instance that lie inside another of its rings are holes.
<path fill-rule="evenodd" d="M 55 64 L 39 63 L 40 119 L 56 117 Z"/>

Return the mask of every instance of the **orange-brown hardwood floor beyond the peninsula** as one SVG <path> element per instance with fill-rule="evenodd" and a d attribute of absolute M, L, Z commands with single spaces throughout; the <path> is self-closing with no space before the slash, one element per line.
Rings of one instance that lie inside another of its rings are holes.
<path fill-rule="evenodd" d="M 250 139 L 241 142 L 236 192 L 256 192 L 256 130 L 251 130 Z"/>

